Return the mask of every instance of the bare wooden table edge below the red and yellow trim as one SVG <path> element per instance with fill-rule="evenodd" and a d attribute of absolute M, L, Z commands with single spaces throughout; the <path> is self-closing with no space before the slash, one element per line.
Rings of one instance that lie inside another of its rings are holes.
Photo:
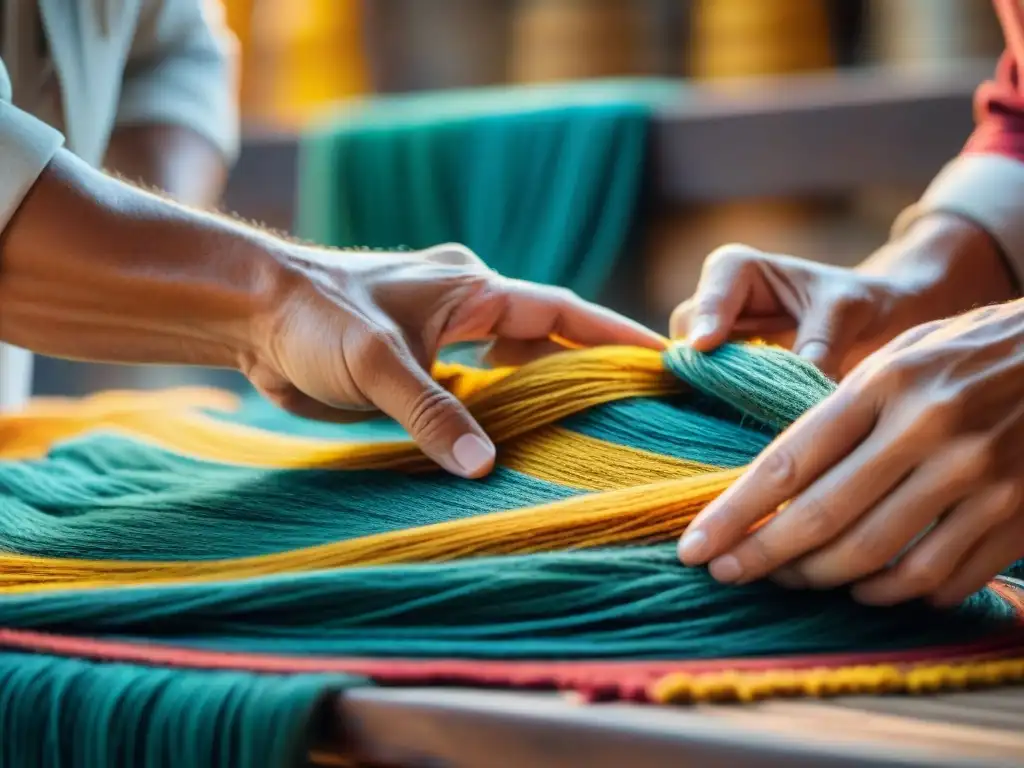
<path fill-rule="evenodd" d="M 360 765 L 1024 766 L 1024 687 L 674 708 L 394 688 L 334 710 L 336 739 Z"/>

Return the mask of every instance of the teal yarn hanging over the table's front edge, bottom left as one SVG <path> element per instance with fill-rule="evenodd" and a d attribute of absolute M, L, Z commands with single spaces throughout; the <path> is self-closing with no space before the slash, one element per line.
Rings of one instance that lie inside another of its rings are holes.
<path fill-rule="evenodd" d="M 368 684 L 0 653 L 0 765 L 298 766 L 328 695 Z"/>

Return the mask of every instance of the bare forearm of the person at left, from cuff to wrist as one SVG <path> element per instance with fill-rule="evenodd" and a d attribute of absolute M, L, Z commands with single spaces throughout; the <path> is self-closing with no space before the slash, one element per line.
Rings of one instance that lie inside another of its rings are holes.
<path fill-rule="evenodd" d="M 283 243 L 61 151 L 0 241 L 0 341 L 53 356 L 236 368 Z"/>

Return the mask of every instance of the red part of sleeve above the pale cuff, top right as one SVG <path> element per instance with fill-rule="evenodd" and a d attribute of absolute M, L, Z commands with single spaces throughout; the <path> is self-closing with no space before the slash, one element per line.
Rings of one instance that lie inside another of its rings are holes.
<path fill-rule="evenodd" d="M 1018 0 L 993 0 L 1007 49 L 994 79 L 975 92 L 977 127 L 965 153 L 1002 155 L 1024 161 L 1024 89 L 1020 67 L 1024 61 L 1024 12 Z"/>

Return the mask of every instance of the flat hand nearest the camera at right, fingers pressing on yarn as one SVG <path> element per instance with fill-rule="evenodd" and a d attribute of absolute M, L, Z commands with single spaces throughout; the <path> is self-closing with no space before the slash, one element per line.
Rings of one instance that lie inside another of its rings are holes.
<path fill-rule="evenodd" d="M 1024 557 L 1024 300 L 867 357 L 697 516 L 680 557 L 725 583 L 936 605 Z"/>

